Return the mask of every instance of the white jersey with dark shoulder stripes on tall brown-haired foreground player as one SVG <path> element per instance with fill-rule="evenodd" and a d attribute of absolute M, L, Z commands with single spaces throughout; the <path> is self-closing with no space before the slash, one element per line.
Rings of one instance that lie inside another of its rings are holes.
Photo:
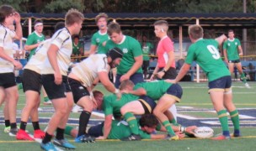
<path fill-rule="evenodd" d="M 57 64 L 61 70 L 61 75 L 67 76 L 68 66 L 71 62 L 70 56 L 72 55 L 72 37 L 67 28 L 56 31 L 51 38 L 51 44 L 55 44 L 59 48 L 57 52 Z M 41 74 L 54 74 L 48 57 L 45 59 Z"/>

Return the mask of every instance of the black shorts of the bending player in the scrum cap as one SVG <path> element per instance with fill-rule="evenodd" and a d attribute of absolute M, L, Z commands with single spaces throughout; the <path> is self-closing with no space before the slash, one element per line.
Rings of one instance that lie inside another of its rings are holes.
<path fill-rule="evenodd" d="M 69 86 L 71 87 L 74 102 L 77 103 L 83 96 L 90 96 L 87 88 L 81 84 L 80 81 L 72 78 L 67 78 Z"/>

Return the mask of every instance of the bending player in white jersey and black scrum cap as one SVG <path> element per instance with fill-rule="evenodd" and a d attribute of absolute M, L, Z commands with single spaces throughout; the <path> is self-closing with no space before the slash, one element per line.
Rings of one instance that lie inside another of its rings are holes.
<path fill-rule="evenodd" d="M 72 68 L 68 75 L 68 82 L 72 89 L 74 102 L 83 107 L 79 117 L 79 128 L 76 143 L 92 142 L 94 138 L 88 136 L 85 132 L 91 112 L 93 112 L 93 98 L 90 97 L 89 90 L 93 89 L 93 85 L 97 84 L 97 80 L 101 81 L 104 87 L 115 94 L 119 94 L 119 90 L 109 81 L 108 71 L 120 64 L 123 52 L 120 49 L 109 49 L 107 55 L 95 54 L 90 55 L 87 59 L 78 63 Z"/>

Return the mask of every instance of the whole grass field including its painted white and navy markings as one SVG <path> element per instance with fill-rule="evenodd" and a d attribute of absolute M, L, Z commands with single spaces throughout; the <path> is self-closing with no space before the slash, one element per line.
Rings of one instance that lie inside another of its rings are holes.
<path fill-rule="evenodd" d="M 209 139 L 184 138 L 179 141 L 167 140 L 143 140 L 138 142 L 121 142 L 118 140 L 97 141 L 96 143 L 73 143 L 76 150 L 254 150 L 256 147 L 256 83 L 250 82 L 251 89 L 246 89 L 242 82 L 233 82 L 233 102 L 235 102 L 241 118 L 242 138 L 232 138 L 230 141 L 212 141 Z M 215 130 L 215 134 L 221 133 L 220 123 L 213 111 L 210 97 L 207 93 L 207 83 L 182 82 L 180 85 L 184 89 L 182 101 L 176 104 L 178 108 L 178 122 L 185 126 L 209 126 Z M 96 89 L 103 90 L 103 86 Z M 19 104 L 17 120 L 19 121 L 21 110 L 24 107 L 24 93 L 19 91 Z M 104 94 L 108 92 L 104 91 Z M 41 105 L 43 111 L 40 112 L 40 127 L 44 129 L 53 112 L 51 106 Z M 99 112 L 100 113 L 100 112 Z M 68 124 L 77 126 L 79 113 L 71 113 Z M 90 125 L 103 120 L 100 114 L 93 114 Z M 230 122 L 231 123 L 231 122 Z M 3 107 L 0 107 L 0 150 L 40 150 L 40 144 L 36 142 L 17 141 L 9 137 L 8 133 L 3 133 Z M 232 124 L 230 125 L 232 132 Z M 29 123 L 29 132 L 33 133 L 33 128 Z M 71 142 L 73 138 L 67 136 Z"/>

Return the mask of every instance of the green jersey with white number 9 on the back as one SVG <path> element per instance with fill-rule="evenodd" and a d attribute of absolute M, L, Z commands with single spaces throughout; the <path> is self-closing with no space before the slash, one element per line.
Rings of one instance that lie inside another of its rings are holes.
<path fill-rule="evenodd" d="M 215 39 L 199 39 L 189 46 L 185 63 L 191 65 L 195 60 L 205 71 L 209 81 L 230 76 L 227 66 L 221 60 L 218 42 Z"/>

